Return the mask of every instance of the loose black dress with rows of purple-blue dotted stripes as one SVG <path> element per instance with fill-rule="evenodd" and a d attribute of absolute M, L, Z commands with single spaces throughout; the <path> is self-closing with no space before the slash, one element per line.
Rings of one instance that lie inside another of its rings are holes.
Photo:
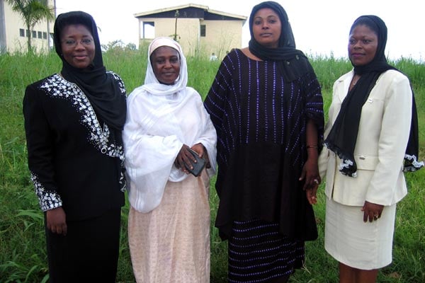
<path fill-rule="evenodd" d="M 287 82 L 276 62 L 256 61 L 232 50 L 204 104 L 217 130 L 215 187 L 220 204 L 215 226 L 222 239 L 229 239 L 229 280 L 234 264 L 230 257 L 244 262 L 242 254 L 252 258 L 259 250 L 269 250 L 259 258 L 271 253 L 279 258 L 270 266 L 260 260 L 257 272 L 270 274 L 259 278 L 292 272 L 288 270 L 300 267 L 304 259 L 304 241 L 317 238 L 314 212 L 298 180 L 307 160 L 307 120 L 317 125 L 317 139 L 323 137 L 322 91 L 316 75 Z M 238 237 L 255 240 L 241 242 Z M 246 272 L 256 273 L 251 262 L 234 267 L 234 272 L 244 265 L 249 267 Z M 282 265 L 290 267 L 278 267 Z M 257 275 L 252 281 L 239 277 L 233 282 L 266 282 L 257 281 Z"/>

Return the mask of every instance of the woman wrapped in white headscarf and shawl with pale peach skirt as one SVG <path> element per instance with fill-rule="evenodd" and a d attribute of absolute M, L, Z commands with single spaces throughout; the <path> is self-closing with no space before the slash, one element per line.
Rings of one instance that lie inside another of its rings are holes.
<path fill-rule="evenodd" d="M 209 282 L 210 176 L 217 135 L 199 93 L 186 86 L 179 43 L 149 45 L 145 84 L 128 97 L 123 139 L 130 180 L 128 238 L 137 282 Z M 188 169 L 207 161 L 198 177 Z"/>

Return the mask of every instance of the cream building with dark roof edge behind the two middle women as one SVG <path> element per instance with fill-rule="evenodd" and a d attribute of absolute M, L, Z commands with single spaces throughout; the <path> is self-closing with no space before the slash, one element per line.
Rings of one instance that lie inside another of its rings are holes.
<path fill-rule="evenodd" d="M 242 27 L 246 16 L 186 4 L 135 13 L 139 20 L 140 45 L 154 37 L 167 36 L 178 41 L 186 56 L 206 56 L 213 52 L 222 58 L 232 48 L 242 47 Z"/>

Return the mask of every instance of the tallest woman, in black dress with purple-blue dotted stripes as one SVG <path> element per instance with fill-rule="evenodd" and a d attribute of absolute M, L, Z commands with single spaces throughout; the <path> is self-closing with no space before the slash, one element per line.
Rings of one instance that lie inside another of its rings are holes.
<path fill-rule="evenodd" d="M 254 6 L 249 28 L 249 47 L 227 54 L 205 98 L 218 137 L 215 226 L 229 282 L 286 282 L 317 238 L 306 195 L 320 181 L 322 93 L 280 4 Z"/>

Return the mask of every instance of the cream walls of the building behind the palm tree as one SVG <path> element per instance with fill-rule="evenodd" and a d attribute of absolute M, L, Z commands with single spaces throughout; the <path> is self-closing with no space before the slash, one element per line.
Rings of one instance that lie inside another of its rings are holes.
<path fill-rule="evenodd" d="M 0 0 L 3 1 L 3 0 Z M 53 6 L 53 0 L 49 0 L 50 6 Z M 21 14 L 12 10 L 11 6 L 4 1 L 4 34 L 6 40 L 7 52 L 26 52 L 27 48 L 27 28 Z M 52 45 L 50 33 L 53 33 L 54 22 L 47 23 L 46 21 L 38 23 L 30 30 L 31 46 L 35 52 L 47 52 L 49 45 Z M 20 30 L 24 31 L 24 36 L 21 36 Z M 33 37 L 35 31 L 35 37 Z M 41 38 L 39 38 L 41 36 Z"/>

